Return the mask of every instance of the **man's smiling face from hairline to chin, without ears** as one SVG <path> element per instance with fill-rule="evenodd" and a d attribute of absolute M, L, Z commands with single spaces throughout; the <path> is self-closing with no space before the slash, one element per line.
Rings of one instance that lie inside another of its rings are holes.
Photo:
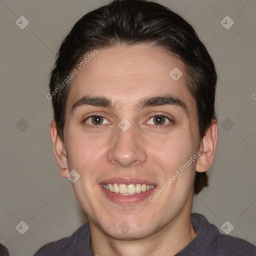
<path fill-rule="evenodd" d="M 182 61 L 147 44 L 99 48 L 72 79 L 65 118 L 68 169 L 91 226 L 141 238 L 190 213 L 200 139 Z"/>

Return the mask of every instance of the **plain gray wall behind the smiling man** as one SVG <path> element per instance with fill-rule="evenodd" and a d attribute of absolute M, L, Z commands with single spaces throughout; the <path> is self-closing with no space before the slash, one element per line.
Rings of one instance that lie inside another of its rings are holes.
<path fill-rule="evenodd" d="M 234 226 L 230 235 L 256 243 L 256 2 L 157 2 L 194 26 L 218 73 L 217 153 L 208 171 L 210 186 L 194 198 L 193 211 L 204 214 L 222 233 L 220 227 L 228 220 Z M 70 181 L 58 176 L 46 94 L 61 40 L 78 18 L 102 4 L 103 0 L 0 1 L 0 242 L 13 256 L 31 255 L 86 221 Z M 21 15 L 29 21 L 24 29 L 15 24 Z M 220 23 L 226 15 L 234 21 L 229 29 Z M 29 226 L 24 234 L 15 229 L 21 220 Z M 231 225 L 225 227 L 229 230 Z"/>

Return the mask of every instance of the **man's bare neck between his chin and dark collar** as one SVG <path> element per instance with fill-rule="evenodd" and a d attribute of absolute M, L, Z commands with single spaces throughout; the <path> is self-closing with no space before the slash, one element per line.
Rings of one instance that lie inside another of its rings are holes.
<path fill-rule="evenodd" d="M 191 223 L 190 211 L 179 212 L 166 226 L 158 232 L 141 239 L 118 240 L 103 233 L 98 226 L 89 221 L 91 232 L 91 249 L 94 255 L 106 256 L 162 256 L 175 255 L 195 236 Z"/>

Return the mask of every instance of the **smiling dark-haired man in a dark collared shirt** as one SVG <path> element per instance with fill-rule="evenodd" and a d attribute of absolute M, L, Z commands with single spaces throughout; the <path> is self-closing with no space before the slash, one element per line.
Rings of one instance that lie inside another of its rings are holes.
<path fill-rule="evenodd" d="M 35 255 L 255 255 L 191 214 L 215 155 L 215 84 L 193 28 L 164 6 L 114 0 L 84 15 L 47 97 L 59 175 L 88 223 Z"/>

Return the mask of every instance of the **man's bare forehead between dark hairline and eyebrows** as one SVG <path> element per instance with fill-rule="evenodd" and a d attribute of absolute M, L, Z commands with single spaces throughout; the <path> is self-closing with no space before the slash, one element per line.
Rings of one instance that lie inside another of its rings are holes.
<path fill-rule="evenodd" d="M 116 107 L 128 104 L 132 108 L 142 97 L 171 94 L 186 102 L 188 109 L 195 107 L 185 83 L 183 62 L 159 47 L 118 45 L 99 48 L 90 58 L 88 54 L 82 58 L 87 57 L 86 64 L 83 62 L 80 70 L 75 67 L 78 73 L 72 78 L 67 109 L 84 95 L 104 96 Z M 172 78 L 173 72 L 170 75 L 173 68 L 174 73 L 183 73 L 177 80 Z"/>

